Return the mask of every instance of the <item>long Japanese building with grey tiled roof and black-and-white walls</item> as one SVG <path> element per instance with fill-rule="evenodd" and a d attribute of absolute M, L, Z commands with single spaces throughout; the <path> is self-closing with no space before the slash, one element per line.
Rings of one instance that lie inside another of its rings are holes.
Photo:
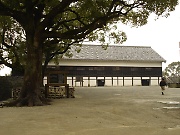
<path fill-rule="evenodd" d="M 162 77 L 162 58 L 151 47 L 82 45 L 71 48 L 72 57 L 63 56 L 59 65 L 50 63 L 48 71 L 67 75 L 69 86 L 158 85 Z M 56 76 L 58 82 L 61 75 Z"/>

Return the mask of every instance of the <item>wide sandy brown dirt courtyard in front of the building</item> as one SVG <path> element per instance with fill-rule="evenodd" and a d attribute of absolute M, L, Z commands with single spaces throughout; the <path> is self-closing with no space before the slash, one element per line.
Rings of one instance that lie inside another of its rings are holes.
<path fill-rule="evenodd" d="M 52 105 L 0 108 L 0 135 L 179 135 L 180 89 L 76 88 Z"/>

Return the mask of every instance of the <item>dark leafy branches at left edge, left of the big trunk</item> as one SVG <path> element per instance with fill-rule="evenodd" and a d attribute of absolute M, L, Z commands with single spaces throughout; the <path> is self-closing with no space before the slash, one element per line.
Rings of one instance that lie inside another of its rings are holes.
<path fill-rule="evenodd" d="M 12 75 L 22 75 L 27 53 L 24 30 L 11 17 L 0 20 L 0 64 L 12 68 Z"/>

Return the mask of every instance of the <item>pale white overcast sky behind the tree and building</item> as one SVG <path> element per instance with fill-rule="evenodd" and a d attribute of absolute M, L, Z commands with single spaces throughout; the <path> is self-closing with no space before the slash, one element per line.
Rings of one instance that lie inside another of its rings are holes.
<path fill-rule="evenodd" d="M 180 3 L 180 0 L 179 0 Z M 151 46 L 165 60 L 163 69 L 171 62 L 180 61 L 180 5 L 170 13 L 168 18 L 161 17 L 155 20 L 151 16 L 146 25 L 138 28 L 118 26 L 127 35 L 126 46 Z M 0 70 L 0 75 L 9 74 L 10 69 Z"/>

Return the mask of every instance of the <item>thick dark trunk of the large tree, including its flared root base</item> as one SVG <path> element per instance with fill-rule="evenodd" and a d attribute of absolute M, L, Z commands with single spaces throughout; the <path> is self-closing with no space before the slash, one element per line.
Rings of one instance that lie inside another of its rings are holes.
<path fill-rule="evenodd" d="M 42 95 L 42 46 L 38 35 L 27 35 L 27 63 L 24 83 L 20 97 L 14 102 L 16 106 L 39 106 L 47 104 Z"/>

